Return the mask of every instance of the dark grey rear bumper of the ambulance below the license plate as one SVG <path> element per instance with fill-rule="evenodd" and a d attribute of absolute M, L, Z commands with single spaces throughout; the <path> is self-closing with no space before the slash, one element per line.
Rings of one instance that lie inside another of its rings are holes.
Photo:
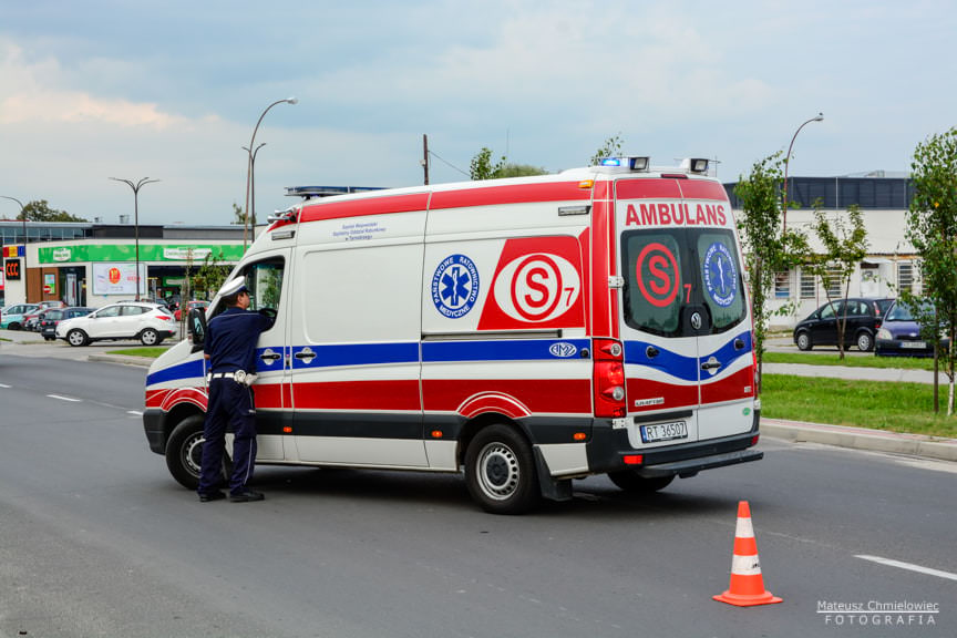
<path fill-rule="evenodd" d="M 754 445 L 760 419 L 761 411 L 754 410 L 749 432 L 649 450 L 631 447 L 625 430 L 613 430 L 610 423 L 596 423 L 588 444 L 588 467 L 595 473 L 632 470 L 639 476 L 651 478 L 693 476 L 702 470 L 759 461 L 764 457 L 764 453 L 749 449 Z M 626 464 L 625 456 L 635 454 L 642 456 L 642 463 Z"/>

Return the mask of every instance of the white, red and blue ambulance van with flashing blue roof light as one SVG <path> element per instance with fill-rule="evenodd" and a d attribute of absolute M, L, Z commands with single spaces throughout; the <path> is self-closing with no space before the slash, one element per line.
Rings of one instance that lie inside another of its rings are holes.
<path fill-rule="evenodd" d="M 707 169 L 629 156 L 296 191 L 229 276 L 276 318 L 256 347 L 257 463 L 463 473 L 482 508 L 517 514 L 589 475 L 649 494 L 761 459 L 741 248 Z M 194 312 L 152 366 L 143 414 L 189 488 L 204 331 Z"/>

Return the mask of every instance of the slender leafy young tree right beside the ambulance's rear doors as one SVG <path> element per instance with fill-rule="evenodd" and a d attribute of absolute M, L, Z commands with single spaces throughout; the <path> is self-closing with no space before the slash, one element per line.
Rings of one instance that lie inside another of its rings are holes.
<path fill-rule="evenodd" d="M 771 310 L 766 306 L 768 294 L 774 288 L 774 276 L 788 270 L 807 254 L 806 241 L 800 233 L 781 231 L 782 182 L 781 153 L 755 162 L 751 173 L 739 177 L 734 195 L 741 200 L 743 212 L 738 226 L 744 236 L 744 264 L 751 291 L 751 312 L 754 319 L 754 353 L 758 359 L 758 388 L 761 392 L 761 373 L 764 359 L 764 338 L 771 317 L 785 313 L 788 307 Z"/>

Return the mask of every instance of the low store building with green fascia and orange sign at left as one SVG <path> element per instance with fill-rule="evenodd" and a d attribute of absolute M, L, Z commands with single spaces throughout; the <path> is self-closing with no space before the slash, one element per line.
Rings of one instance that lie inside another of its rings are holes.
<path fill-rule="evenodd" d="M 165 298 L 178 295 L 187 269 L 207 256 L 233 266 L 244 253 L 243 226 L 236 225 L 140 225 L 138 249 L 136 235 L 128 224 L 0 220 L 3 303 L 99 307 L 133 299 L 137 261 L 140 296 Z"/>

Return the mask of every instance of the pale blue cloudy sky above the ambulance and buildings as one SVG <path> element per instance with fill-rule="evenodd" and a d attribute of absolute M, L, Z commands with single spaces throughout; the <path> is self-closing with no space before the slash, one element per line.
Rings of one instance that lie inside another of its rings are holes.
<path fill-rule="evenodd" d="M 723 182 L 909 169 L 957 125 L 957 3 L 912 0 L 0 0 L 0 195 L 103 223 L 228 224 L 287 186 L 548 172 L 608 137 Z M 0 199 L 0 218 L 19 214 Z"/>

